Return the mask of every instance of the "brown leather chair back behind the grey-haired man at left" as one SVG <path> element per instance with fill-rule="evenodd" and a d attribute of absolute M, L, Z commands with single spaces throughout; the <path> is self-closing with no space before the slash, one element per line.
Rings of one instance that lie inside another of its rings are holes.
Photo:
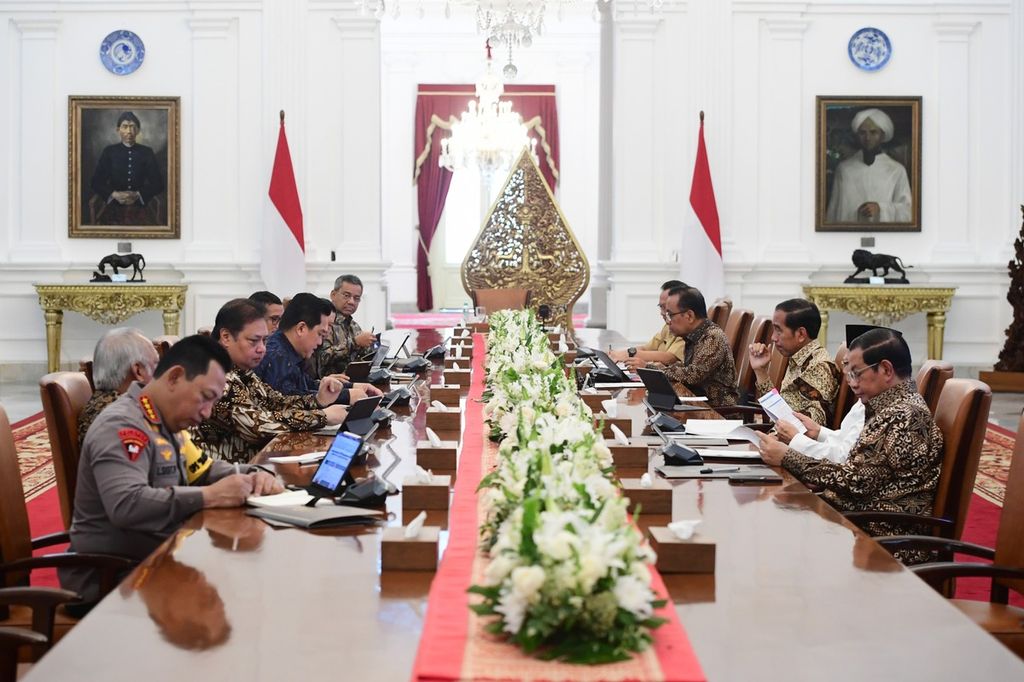
<path fill-rule="evenodd" d="M 92 388 L 81 372 L 53 372 L 39 380 L 39 396 L 53 453 L 60 516 L 65 527 L 70 528 L 78 481 L 78 416 L 92 397 Z"/>

